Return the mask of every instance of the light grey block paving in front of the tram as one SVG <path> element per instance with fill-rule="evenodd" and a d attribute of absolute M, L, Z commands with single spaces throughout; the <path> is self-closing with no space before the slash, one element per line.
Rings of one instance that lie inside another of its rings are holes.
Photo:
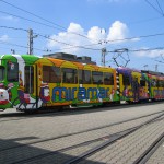
<path fill-rule="evenodd" d="M 81 147 L 61 150 L 63 148 L 72 147 L 86 142 L 92 139 L 101 138 L 103 136 L 113 134 L 121 130 L 137 126 L 140 122 L 147 121 L 164 110 L 164 104 L 148 104 L 139 106 L 124 106 L 124 107 L 110 107 L 105 109 L 90 109 L 80 112 L 62 112 L 60 114 L 38 114 L 38 115 L 24 115 L 15 113 L 15 110 L 7 110 L 0 113 L 0 163 L 61 163 L 66 162 L 72 156 L 79 155 L 84 151 L 90 150 L 104 142 L 98 140 L 96 142 L 85 143 Z M 15 113 L 15 114 L 14 114 Z M 156 113 L 155 115 L 151 115 Z M 115 125 L 125 120 L 134 119 L 144 115 L 138 120 L 126 121 L 120 125 Z M 129 137 L 130 141 L 126 140 L 124 145 L 113 145 L 116 150 L 119 150 L 118 163 L 124 163 L 120 160 L 125 148 L 131 149 L 130 144 L 133 144 L 136 138 L 136 144 L 147 145 L 157 137 L 157 133 L 164 132 L 163 119 L 156 124 L 150 126 L 153 129 L 150 134 L 148 127 L 142 129 L 139 133 Z M 161 125 L 161 126 L 159 126 Z M 155 131 L 156 129 L 156 131 Z M 150 137 L 149 140 L 147 140 Z M 141 140 L 143 138 L 143 140 Z M 139 141 L 139 142 L 137 142 Z M 144 143 L 143 143 L 144 142 Z M 122 142 L 121 142 L 122 143 Z M 132 148 L 137 147 L 133 145 Z M 140 149 L 140 147 L 139 147 Z M 61 150 L 61 151 L 59 151 Z M 85 163 L 91 161 L 101 163 L 114 163 L 112 160 L 105 156 L 112 156 L 114 152 L 110 148 L 106 148 L 99 154 L 94 154 L 89 157 Z M 54 155 L 58 152 L 58 155 Z M 115 153 L 118 151 L 115 151 Z M 129 152 L 129 151 L 128 151 Z M 52 153 L 52 154 L 51 154 Z M 126 153 L 126 152 L 125 152 Z M 44 157 L 45 154 L 46 157 Z M 110 154 L 110 155 L 109 155 Z M 164 147 L 161 145 L 148 163 L 163 163 Z M 131 155 L 133 153 L 131 152 Z M 99 157 L 101 156 L 101 157 Z M 118 155 L 117 155 L 118 156 Z M 27 159 L 31 159 L 30 161 Z M 62 159 L 62 160 L 61 160 Z M 112 157 L 114 160 L 114 157 Z M 126 163 L 132 163 L 130 159 L 125 159 Z M 115 161 L 116 162 L 116 161 Z"/>

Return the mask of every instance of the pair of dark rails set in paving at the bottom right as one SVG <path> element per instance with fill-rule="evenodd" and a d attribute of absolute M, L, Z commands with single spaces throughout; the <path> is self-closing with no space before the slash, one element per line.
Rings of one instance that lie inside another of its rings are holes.
<path fill-rule="evenodd" d="M 160 116 L 160 117 L 161 117 L 161 116 Z M 162 115 L 162 117 L 163 117 L 163 115 Z M 159 118 L 159 117 L 156 117 L 156 118 Z M 70 160 L 69 162 L 66 162 L 66 164 L 84 163 L 84 161 L 85 161 L 86 157 L 90 157 L 90 156 L 92 156 L 92 154 L 95 154 L 96 152 L 102 151 L 104 148 L 110 147 L 112 144 L 116 143 L 116 142 L 117 142 L 118 140 L 120 140 L 120 139 L 126 139 L 127 136 L 130 136 L 130 134 L 137 132 L 137 130 L 140 130 L 143 126 L 147 126 L 147 125 L 149 125 L 149 124 L 152 124 L 152 121 L 154 122 L 154 120 L 155 120 L 156 118 L 151 119 L 151 120 L 149 120 L 149 121 L 147 121 L 147 122 L 144 122 L 144 124 L 142 124 L 142 125 L 139 125 L 139 126 L 137 126 L 137 127 L 134 127 L 134 128 L 131 128 L 131 129 L 128 129 L 128 130 L 124 131 L 121 134 L 116 136 L 116 137 L 112 138 L 110 140 L 103 142 L 103 143 L 99 144 L 98 147 L 95 147 L 95 148 L 93 148 L 93 149 L 91 149 L 91 150 L 89 150 L 89 151 L 86 151 L 86 152 L 80 154 L 79 156 L 77 156 L 77 157 Z M 163 117 L 163 119 L 164 119 L 164 117 Z M 151 156 L 151 154 L 153 153 L 152 150 L 155 150 L 154 147 L 156 145 L 156 149 L 157 149 L 159 145 L 161 145 L 160 143 L 162 143 L 162 142 L 160 142 L 160 141 L 163 141 L 163 138 L 164 138 L 164 132 L 163 132 L 152 144 L 150 144 L 150 147 L 149 147 L 145 151 L 143 151 L 143 153 L 140 153 L 141 155 L 133 162 L 133 164 L 145 163 L 147 160 L 148 160 L 148 159 Z M 159 144 L 157 144 L 157 143 L 159 143 Z M 99 153 L 99 152 L 98 152 L 98 153 Z M 120 157 L 119 160 L 122 160 L 122 157 L 125 157 L 125 154 L 121 155 L 121 157 Z M 134 157 L 136 157 L 136 156 L 134 156 Z M 134 157 L 133 157 L 133 159 L 134 159 Z M 106 162 L 107 162 L 107 161 L 106 161 Z M 108 162 L 109 162 L 109 161 L 108 161 Z M 116 157 L 116 161 L 115 161 L 115 162 L 116 162 L 116 163 L 118 162 L 118 157 Z M 127 160 L 127 161 L 124 160 L 122 162 L 124 162 L 124 163 L 128 163 L 128 160 Z M 121 163 L 121 162 L 120 162 L 120 163 Z"/>

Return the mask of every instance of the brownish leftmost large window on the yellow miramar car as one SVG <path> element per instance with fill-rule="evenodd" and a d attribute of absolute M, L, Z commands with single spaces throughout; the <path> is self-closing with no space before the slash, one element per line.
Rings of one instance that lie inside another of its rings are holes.
<path fill-rule="evenodd" d="M 55 66 L 43 66 L 43 82 L 60 83 L 61 82 L 60 68 Z"/>

